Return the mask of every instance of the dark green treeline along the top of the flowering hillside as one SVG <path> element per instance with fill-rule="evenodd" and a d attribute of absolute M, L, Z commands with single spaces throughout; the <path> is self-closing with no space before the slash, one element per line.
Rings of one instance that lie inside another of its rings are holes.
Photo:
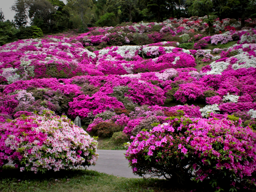
<path fill-rule="evenodd" d="M 0 44 L 8 39 L 31 38 L 88 27 L 115 26 L 122 22 L 160 22 L 169 18 L 208 16 L 241 19 L 256 17 L 256 0 L 16 0 L 14 20 L 4 21 L 0 10 Z M 28 27 L 31 25 L 32 27 Z M 26 27 L 27 26 L 27 27 Z"/>

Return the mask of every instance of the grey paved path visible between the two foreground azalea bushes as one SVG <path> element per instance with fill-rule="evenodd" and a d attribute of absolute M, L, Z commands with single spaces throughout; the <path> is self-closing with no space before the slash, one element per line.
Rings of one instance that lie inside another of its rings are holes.
<path fill-rule="evenodd" d="M 95 166 L 90 166 L 88 170 L 104 172 L 109 175 L 127 178 L 141 178 L 132 173 L 132 168 L 128 167 L 128 160 L 125 159 L 125 150 L 97 150 L 99 158 Z"/>

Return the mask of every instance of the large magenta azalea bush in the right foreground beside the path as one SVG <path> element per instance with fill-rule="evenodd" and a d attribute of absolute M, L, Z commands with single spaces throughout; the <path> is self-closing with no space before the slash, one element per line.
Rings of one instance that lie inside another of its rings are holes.
<path fill-rule="evenodd" d="M 142 130 L 126 151 L 135 174 L 164 176 L 177 182 L 210 182 L 212 187 L 255 188 L 256 134 L 234 116 L 171 117 Z"/>

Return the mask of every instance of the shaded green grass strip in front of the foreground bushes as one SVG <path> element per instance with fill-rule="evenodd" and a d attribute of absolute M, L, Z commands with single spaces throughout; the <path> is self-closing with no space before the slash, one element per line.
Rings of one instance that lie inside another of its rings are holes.
<path fill-rule="evenodd" d="M 159 179 L 129 179 L 96 171 L 59 171 L 44 174 L 5 168 L 1 192 L 188 192 L 193 186 Z M 190 189 L 188 189 L 190 188 Z"/>

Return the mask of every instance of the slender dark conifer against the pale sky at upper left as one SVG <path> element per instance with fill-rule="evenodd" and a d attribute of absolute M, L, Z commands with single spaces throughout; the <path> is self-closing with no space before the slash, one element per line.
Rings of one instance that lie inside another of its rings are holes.
<path fill-rule="evenodd" d="M 27 8 L 28 6 L 25 0 L 16 0 L 12 5 L 12 11 L 16 12 L 14 16 L 14 23 L 18 28 L 25 26 L 28 22 Z"/>

